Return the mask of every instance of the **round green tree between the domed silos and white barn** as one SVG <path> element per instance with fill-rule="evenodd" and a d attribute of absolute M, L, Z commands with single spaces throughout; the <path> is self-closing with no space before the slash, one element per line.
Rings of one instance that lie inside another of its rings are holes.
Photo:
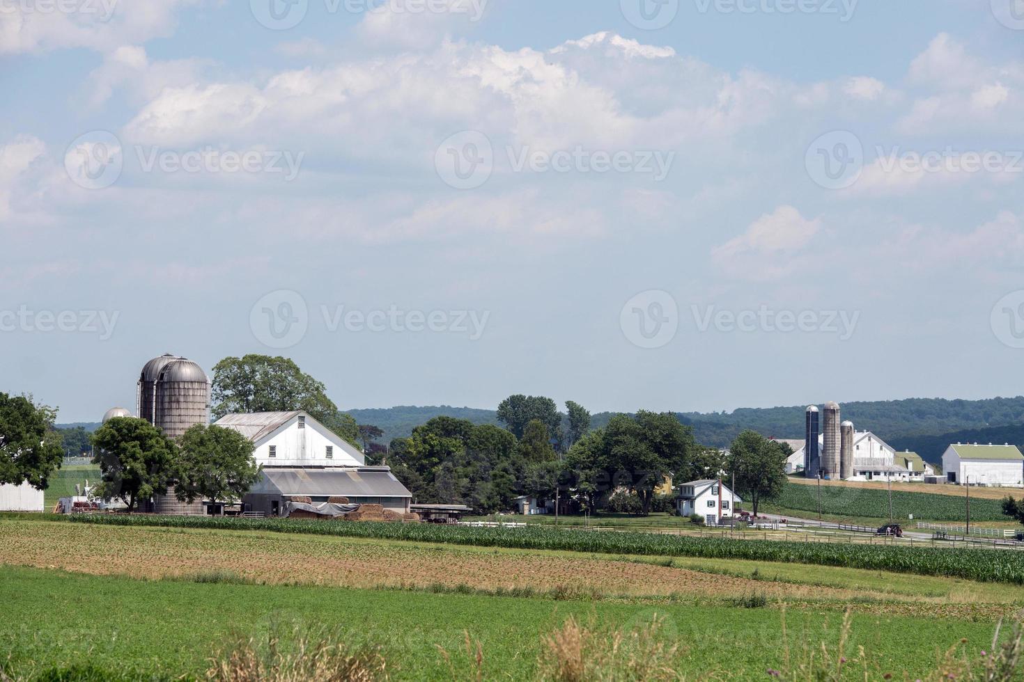
<path fill-rule="evenodd" d="M 233 503 L 260 480 L 253 443 L 231 428 L 196 424 L 181 435 L 174 478 L 179 500 Z"/>

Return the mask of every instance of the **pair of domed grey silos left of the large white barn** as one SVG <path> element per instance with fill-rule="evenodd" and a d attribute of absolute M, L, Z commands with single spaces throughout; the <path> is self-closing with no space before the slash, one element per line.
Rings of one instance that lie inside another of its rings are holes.
<path fill-rule="evenodd" d="M 165 354 L 145 363 L 137 383 L 138 415 L 176 439 L 210 422 L 210 379 L 198 364 Z M 202 514 L 203 503 L 178 502 L 173 487 L 154 498 L 159 514 Z"/>

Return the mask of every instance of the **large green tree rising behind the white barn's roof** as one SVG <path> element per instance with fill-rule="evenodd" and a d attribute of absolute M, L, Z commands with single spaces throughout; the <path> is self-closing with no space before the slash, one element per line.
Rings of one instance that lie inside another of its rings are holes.
<path fill-rule="evenodd" d="M 338 409 L 326 388 L 288 358 L 247 355 L 213 367 L 213 415 L 303 410 L 358 447 L 355 418 Z"/>

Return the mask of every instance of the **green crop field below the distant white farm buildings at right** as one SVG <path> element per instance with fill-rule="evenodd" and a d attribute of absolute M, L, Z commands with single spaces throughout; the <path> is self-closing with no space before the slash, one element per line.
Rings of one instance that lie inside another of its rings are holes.
<path fill-rule="evenodd" d="M 853 486 L 821 486 L 821 512 L 845 517 L 889 518 L 889 492 Z M 776 508 L 802 510 L 804 516 L 812 512 L 817 517 L 818 487 L 786 482 L 782 494 L 771 500 Z M 893 518 L 964 522 L 965 499 L 953 495 L 892 491 Z M 971 519 L 977 521 L 1006 521 L 999 500 L 972 498 Z"/>

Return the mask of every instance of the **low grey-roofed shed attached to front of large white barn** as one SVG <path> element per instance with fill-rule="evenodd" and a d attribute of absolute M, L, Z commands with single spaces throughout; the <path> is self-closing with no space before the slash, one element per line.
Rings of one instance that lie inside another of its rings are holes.
<path fill-rule="evenodd" d="M 387 466 L 357 467 L 263 467 L 262 479 L 242 498 L 247 511 L 280 516 L 293 497 L 308 497 L 314 505 L 332 497 L 348 503 L 379 504 L 406 513 L 413 494 Z"/>

